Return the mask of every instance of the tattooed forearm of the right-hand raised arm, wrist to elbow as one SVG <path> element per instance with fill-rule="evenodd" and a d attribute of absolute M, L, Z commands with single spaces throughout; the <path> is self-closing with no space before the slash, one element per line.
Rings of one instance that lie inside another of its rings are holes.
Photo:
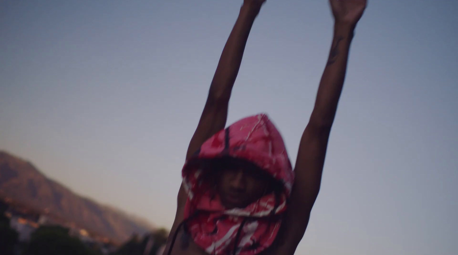
<path fill-rule="evenodd" d="M 312 125 L 330 129 L 333 124 L 340 94 L 344 86 L 352 38 L 352 27 L 335 24 L 333 43 L 310 118 Z"/>

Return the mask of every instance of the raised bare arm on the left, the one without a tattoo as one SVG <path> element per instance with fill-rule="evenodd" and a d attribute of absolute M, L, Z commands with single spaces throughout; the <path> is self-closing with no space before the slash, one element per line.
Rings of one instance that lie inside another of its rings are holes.
<path fill-rule="evenodd" d="M 251 26 L 265 1 L 244 0 L 240 8 L 239 17 L 219 59 L 218 67 L 208 92 L 207 102 L 196 131 L 189 143 L 186 159 L 189 159 L 205 140 L 226 125 L 229 98 L 239 73 L 246 41 L 248 40 Z M 179 199 L 180 194 L 185 196 L 182 188 L 180 188 Z"/>

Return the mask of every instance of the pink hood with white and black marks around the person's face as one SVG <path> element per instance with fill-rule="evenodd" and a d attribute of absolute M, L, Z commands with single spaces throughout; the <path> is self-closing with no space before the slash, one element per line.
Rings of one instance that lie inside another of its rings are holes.
<path fill-rule="evenodd" d="M 245 208 L 226 210 L 200 181 L 199 159 L 223 156 L 249 160 L 284 186 L 280 201 L 268 194 Z M 281 224 L 291 194 L 294 172 L 283 139 L 266 114 L 235 122 L 202 144 L 187 160 L 183 186 L 188 194 L 185 229 L 194 242 L 212 255 L 255 255 L 269 247 Z"/>

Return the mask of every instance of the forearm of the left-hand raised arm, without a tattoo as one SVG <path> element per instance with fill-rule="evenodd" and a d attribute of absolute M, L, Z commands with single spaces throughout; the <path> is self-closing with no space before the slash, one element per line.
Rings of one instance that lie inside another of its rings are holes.
<path fill-rule="evenodd" d="M 240 8 L 239 17 L 224 46 L 213 76 L 209 96 L 229 100 L 232 87 L 239 73 L 246 41 L 258 13 L 259 10 L 251 6 L 243 5 Z"/>

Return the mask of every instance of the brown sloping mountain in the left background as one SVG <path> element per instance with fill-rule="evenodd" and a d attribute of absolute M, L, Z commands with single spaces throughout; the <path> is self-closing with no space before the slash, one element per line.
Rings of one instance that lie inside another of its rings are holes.
<path fill-rule="evenodd" d="M 124 242 L 153 230 L 146 220 L 81 197 L 47 178 L 30 162 L 0 151 L 0 197 L 90 233 Z"/>

